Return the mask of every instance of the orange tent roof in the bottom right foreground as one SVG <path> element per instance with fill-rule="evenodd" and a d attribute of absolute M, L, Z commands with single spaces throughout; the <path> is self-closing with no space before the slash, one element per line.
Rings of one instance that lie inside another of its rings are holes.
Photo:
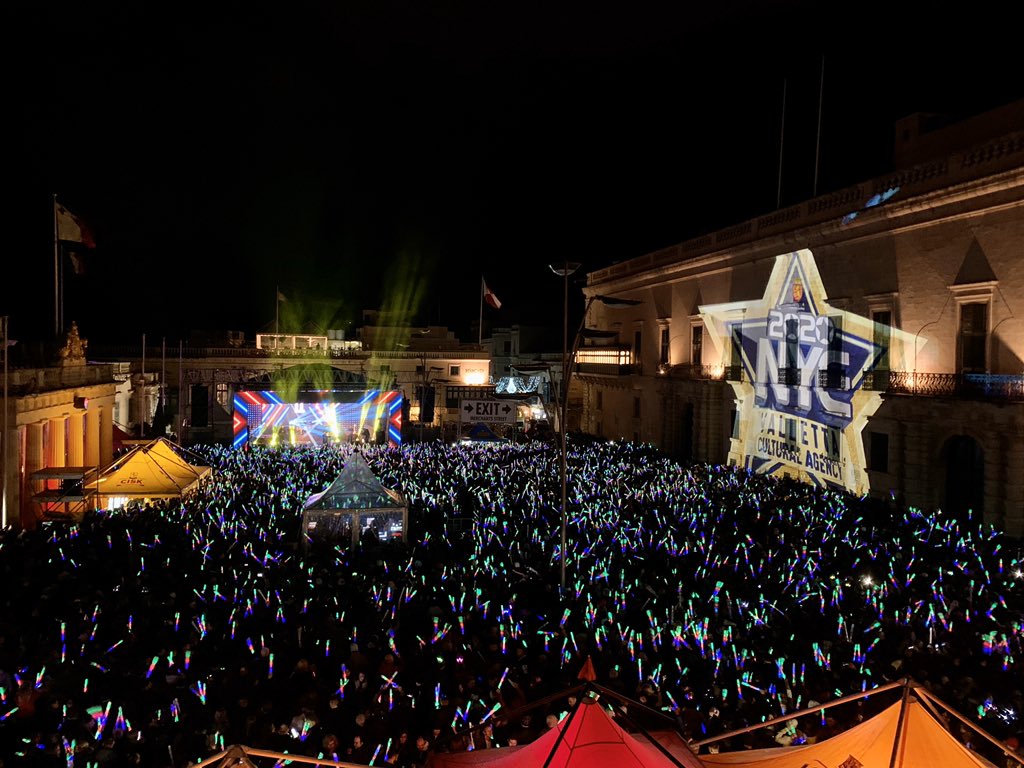
<path fill-rule="evenodd" d="M 902 700 L 873 718 L 815 744 L 701 755 L 707 766 L 803 768 L 808 765 L 889 768 Z M 957 741 L 916 697 L 906 703 L 896 768 L 990 768 L 991 763 Z"/>

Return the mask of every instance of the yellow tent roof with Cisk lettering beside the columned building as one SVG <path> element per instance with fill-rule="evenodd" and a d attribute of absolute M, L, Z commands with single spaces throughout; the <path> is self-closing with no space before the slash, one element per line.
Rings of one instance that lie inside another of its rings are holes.
<path fill-rule="evenodd" d="M 158 437 L 135 446 L 100 470 L 96 479 L 89 482 L 89 489 L 109 497 L 173 499 L 210 472 L 209 467 L 189 464 L 175 452 L 170 440 Z"/>

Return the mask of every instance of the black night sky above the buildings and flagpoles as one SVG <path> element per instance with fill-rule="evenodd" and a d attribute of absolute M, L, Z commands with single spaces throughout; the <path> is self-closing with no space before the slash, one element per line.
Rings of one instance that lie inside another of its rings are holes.
<path fill-rule="evenodd" d="M 819 193 L 888 170 L 899 117 L 1024 95 L 984 4 L 837 5 L 5 5 L 29 288 L 0 313 L 52 330 L 56 193 L 95 233 L 65 313 L 97 343 L 252 338 L 276 287 L 293 328 L 390 306 L 469 340 L 481 272 L 488 322 L 558 328 L 548 263 L 582 280 L 776 207 L 783 81 L 781 202 L 810 197 L 822 56 Z"/>

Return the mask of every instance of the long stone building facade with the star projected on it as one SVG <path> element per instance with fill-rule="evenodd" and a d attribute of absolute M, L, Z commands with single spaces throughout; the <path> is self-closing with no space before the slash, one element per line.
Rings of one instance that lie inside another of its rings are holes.
<path fill-rule="evenodd" d="M 582 427 L 1024 535 L 1022 244 L 1017 130 L 592 272 Z"/>

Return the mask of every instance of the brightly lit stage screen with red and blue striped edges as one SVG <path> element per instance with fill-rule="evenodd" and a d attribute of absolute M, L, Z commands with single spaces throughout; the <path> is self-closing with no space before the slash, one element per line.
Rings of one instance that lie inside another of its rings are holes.
<path fill-rule="evenodd" d="M 287 402 L 276 392 L 234 395 L 232 444 L 321 445 L 401 442 L 401 392 L 308 392 L 316 402 Z"/>

